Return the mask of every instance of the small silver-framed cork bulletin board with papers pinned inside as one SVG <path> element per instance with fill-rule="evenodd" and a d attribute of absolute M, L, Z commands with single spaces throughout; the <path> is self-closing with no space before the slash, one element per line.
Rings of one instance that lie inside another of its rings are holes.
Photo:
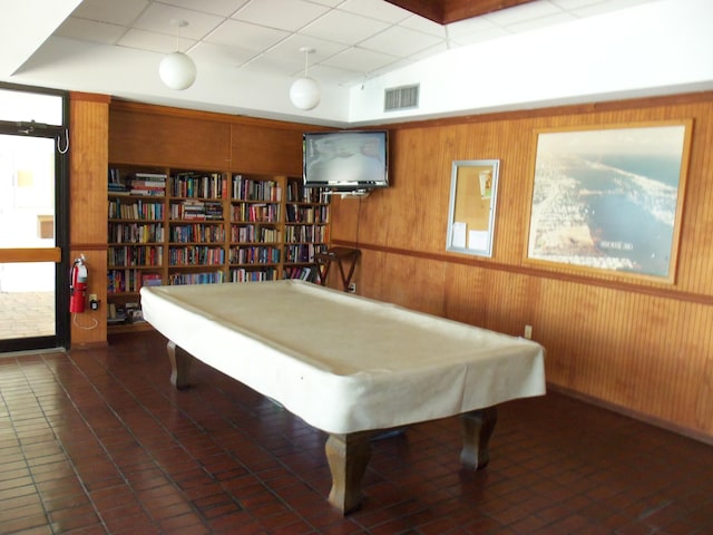
<path fill-rule="evenodd" d="M 499 159 L 452 163 L 447 251 L 492 256 L 499 171 Z"/>

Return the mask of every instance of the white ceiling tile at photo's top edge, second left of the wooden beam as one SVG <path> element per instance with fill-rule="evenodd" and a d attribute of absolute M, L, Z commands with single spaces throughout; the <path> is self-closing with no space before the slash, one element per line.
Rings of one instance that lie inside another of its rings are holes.
<path fill-rule="evenodd" d="M 325 6 L 301 0 L 260 0 L 250 2 L 233 18 L 268 28 L 296 31 L 329 10 Z"/>

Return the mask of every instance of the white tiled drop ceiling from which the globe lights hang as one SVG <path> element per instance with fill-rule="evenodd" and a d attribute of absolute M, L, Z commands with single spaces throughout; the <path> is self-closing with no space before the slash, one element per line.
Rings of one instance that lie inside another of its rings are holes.
<path fill-rule="evenodd" d="M 311 76 L 353 85 L 448 48 L 644 1 L 537 0 L 496 11 L 492 6 L 516 2 L 460 0 L 470 12 L 490 12 L 443 26 L 395 4 L 417 11 L 419 4 L 453 3 L 447 0 L 85 0 L 55 35 L 144 52 L 179 49 L 198 68 L 214 64 L 292 77 L 303 74 L 301 49 L 310 48 Z M 188 26 L 172 23 L 178 20 Z"/>

